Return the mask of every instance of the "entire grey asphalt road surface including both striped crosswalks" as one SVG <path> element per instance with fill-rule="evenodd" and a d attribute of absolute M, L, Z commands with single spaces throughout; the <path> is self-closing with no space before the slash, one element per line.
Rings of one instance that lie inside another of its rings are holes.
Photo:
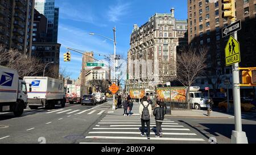
<path fill-rule="evenodd" d="M 155 137 L 155 120 L 151 119 L 151 139 L 142 137 L 137 110 L 123 116 L 122 109 L 112 110 L 112 101 L 96 106 L 67 104 L 55 110 L 26 110 L 22 117 L 0 113 L 0 144 L 229 144 L 234 118 L 177 118 L 166 117 L 163 137 Z M 249 143 L 256 143 L 254 118 L 242 119 L 243 131 Z M 215 140 L 216 139 L 216 140 Z"/>

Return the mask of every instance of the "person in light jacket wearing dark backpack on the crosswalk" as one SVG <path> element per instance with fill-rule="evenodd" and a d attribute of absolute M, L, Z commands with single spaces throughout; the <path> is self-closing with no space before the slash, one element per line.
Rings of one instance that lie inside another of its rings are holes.
<path fill-rule="evenodd" d="M 151 104 L 147 102 L 147 97 L 143 97 L 143 102 L 139 105 L 139 114 L 141 115 L 141 136 L 145 136 L 145 123 L 147 125 L 147 139 L 150 139 L 150 116 L 152 113 Z"/>

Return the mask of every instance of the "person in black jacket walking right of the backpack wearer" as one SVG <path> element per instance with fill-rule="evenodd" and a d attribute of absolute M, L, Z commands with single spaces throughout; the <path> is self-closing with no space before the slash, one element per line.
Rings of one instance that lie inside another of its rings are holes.
<path fill-rule="evenodd" d="M 164 120 L 164 108 L 160 107 L 160 102 L 156 104 L 156 108 L 154 109 L 153 115 L 155 116 L 155 124 L 156 124 L 155 137 L 163 137 L 162 123 Z"/>

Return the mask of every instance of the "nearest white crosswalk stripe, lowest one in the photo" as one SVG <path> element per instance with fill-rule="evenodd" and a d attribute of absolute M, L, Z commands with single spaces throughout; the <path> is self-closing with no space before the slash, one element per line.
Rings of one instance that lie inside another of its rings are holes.
<path fill-rule="evenodd" d="M 85 139 L 126 139 L 126 140 L 147 140 L 147 137 L 114 137 L 114 136 L 86 136 Z M 150 138 L 151 140 L 169 140 L 169 141 L 205 141 L 204 139 L 189 138 Z"/>

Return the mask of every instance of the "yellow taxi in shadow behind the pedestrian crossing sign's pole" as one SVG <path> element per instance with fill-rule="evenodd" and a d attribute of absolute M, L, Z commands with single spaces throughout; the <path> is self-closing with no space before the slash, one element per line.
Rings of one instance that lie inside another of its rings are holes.
<path fill-rule="evenodd" d="M 230 106 L 233 108 L 234 107 L 233 100 L 229 100 L 229 103 L 230 103 Z M 218 103 L 218 108 L 226 112 L 226 110 L 228 109 L 228 100 Z M 255 110 L 255 106 L 251 103 L 247 103 L 241 100 L 241 111 L 251 111 L 251 110 Z"/>

